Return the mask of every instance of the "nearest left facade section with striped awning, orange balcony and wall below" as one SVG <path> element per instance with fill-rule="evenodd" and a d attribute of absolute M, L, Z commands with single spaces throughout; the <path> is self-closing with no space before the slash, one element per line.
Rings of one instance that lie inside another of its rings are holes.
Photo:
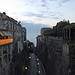
<path fill-rule="evenodd" d="M 13 38 L 7 30 L 0 30 L 0 75 L 8 75 L 9 64 L 13 57 Z"/>

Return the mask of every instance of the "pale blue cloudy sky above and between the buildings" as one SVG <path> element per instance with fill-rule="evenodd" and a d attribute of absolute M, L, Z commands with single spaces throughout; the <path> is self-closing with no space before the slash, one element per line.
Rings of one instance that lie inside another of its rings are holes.
<path fill-rule="evenodd" d="M 75 22 L 75 0 L 0 0 L 0 12 L 21 21 L 27 39 L 36 44 L 41 28 L 63 19 Z"/>

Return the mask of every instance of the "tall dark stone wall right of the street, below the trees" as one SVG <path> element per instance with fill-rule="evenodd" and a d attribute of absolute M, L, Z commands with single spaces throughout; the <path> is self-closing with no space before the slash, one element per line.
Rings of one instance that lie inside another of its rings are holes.
<path fill-rule="evenodd" d="M 68 44 L 63 43 L 61 37 L 51 36 L 42 36 L 37 43 L 37 55 L 46 75 L 68 75 Z"/>

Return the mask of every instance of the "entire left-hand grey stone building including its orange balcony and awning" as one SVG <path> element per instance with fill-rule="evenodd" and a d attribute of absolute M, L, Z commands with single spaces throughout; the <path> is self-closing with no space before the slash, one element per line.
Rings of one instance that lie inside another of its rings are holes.
<path fill-rule="evenodd" d="M 23 50 L 24 40 L 26 28 L 5 12 L 0 13 L 0 75 L 9 75 L 9 63 Z"/>

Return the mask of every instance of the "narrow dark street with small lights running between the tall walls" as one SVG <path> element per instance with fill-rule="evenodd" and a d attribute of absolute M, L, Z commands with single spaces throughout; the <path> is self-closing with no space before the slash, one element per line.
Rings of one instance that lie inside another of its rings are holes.
<path fill-rule="evenodd" d="M 41 61 L 35 56 L 34 53 L 29 56 L 29 59 L 30 62 L 27 75 L 46 75 Z"/>

